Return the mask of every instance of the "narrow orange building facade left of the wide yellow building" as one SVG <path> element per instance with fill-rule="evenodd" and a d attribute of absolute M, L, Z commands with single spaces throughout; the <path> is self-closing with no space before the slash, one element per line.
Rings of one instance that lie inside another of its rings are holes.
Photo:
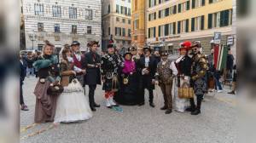
<path fill-rule="evenodd" d="M 131 44 L 143 48 L 146 42 L 147 0 L 132 0 L 131 3 Z"/>

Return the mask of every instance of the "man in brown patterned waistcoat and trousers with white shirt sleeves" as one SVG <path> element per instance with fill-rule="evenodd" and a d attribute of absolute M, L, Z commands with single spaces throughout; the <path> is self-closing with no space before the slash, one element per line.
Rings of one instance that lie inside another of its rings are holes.
<path fill-rule="evenodd" d="M 174 61 L 168 60 L 168 53 L 162 52 L 160 54 L 161 60 L 157 65 L 157 72 L 155 73 L 155 84 L 160 85 L 160 89 L 164 95 L 165 106 L 161 110 L 166 110 L 166 114 L 172 112 L 172 82 L 173 77 L 177 75 L 177 68 Z"/>

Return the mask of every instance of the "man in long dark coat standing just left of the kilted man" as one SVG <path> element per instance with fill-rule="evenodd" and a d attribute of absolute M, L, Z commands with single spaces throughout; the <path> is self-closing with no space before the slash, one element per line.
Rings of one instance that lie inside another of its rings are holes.
<path fill-rule="evenodd" d="M 96 53 L 99 44 L 96 41 L 88 43 L 90 52 L 85 54 L 84 58 L 84 68 L 86 68 L 86 74 L 84 75 L 84 86 L 89 86 L 89 102 L 90 109 L 93 112 L 96 112 L 95 107 L 100 107 L 96 104 L 94 99 L 94 94 L 96 90 L 96 85 L 101 84 L 101 56 Z"/>

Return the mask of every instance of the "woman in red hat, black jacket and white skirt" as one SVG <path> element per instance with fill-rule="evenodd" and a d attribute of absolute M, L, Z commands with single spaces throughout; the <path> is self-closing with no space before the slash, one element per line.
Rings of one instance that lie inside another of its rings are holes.
<path fill-rule="evenodd" d="M 180 56 L 175 60 L 177 67 L 177 77 L 173 83 L 174 105 L 177 112 L 184 112 L 189 107 L 189 99 L 181 99 L 178 97 L 178 88 L 183 86 L 183 83 L 189 83 L 191 72 L 191 58 L 188 56 L 188 51 L 191 46 L 190 42 L 184 42 L 179 49 Z"/>

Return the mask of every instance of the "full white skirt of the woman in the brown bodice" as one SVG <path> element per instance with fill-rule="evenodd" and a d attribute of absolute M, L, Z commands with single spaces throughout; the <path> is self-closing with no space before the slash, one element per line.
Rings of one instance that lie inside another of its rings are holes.
<path fill-rule="evenodd" d="M 84 96 L 83 87 L 77 79 L 64 87 L 57 100 L 55 123 L 72 123 L 92 117 L 89 102 Z"/>

